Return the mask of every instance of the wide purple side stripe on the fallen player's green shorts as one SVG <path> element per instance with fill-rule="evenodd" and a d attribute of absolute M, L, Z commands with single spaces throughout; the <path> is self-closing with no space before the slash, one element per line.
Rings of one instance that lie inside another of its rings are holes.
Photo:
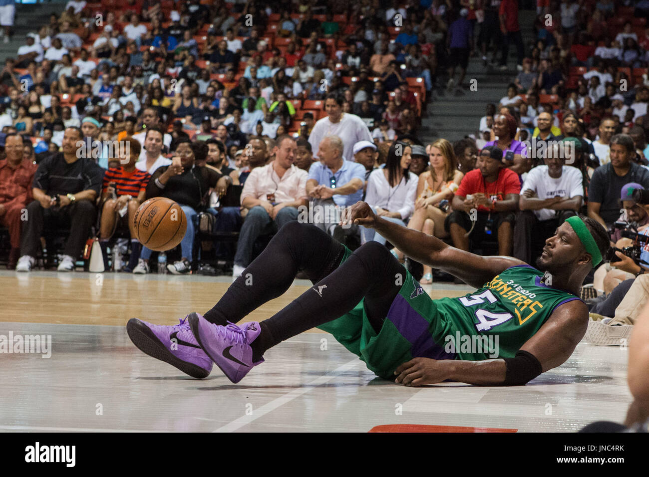
<path fill-rule="evenodd" d="M 391 321 L 398 332 L 412 344 L 410 353 L 413 358 L 424 357 L 435 360 L 453 360 L 454 354 L 445 352 L 443 347 L 433 341 L 428 331 L 430 323 L 419 313 L 415 312 L 410 303 L 402 295 L 397 295 L 392 302 L 387 319 Z"/>

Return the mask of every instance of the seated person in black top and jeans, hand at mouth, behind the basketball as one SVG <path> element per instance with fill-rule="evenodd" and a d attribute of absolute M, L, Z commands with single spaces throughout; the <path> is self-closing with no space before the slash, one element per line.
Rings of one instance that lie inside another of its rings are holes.
<path fill-rule="evenodd" d="M 229 182 L 232 179 L 219 173 L 214 167 L 196 165 L 207 158 L 208 146 L 204 143 L 192 144 L 189 138 L 178 141 L 175 157 L 171 165 L 158 167 L 149 180 L 147 186 L 147 199 L 151 197 L 166 197 L 178 202 L 187 219 L 187 231 L 180 242 L 182 258 L 177 262 L 167 265 L 169 272 L 174 275 L 186 275 L 191 271 L 191 252 L 195 234 L 195 219 L 197 209 L 210 191 L 216 188 L 217 182 Z M 219 184 L 227 188 L 227 183 Z M 138 267 L 134 273 L 149 273 L 149 258 L 151 250 L 142 247 Z"/>

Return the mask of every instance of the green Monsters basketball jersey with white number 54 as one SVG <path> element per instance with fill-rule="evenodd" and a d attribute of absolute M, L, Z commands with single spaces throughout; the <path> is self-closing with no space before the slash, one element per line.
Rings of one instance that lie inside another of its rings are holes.
<path fill-rule="evenodd" d="M 510 267 L 474 293 L 434 300 L 435 343 L 458 360 L 513 358 L 557 306 L 578 297 L 541 282 L 530 265 Z M 495 356 L 497 354 L 497 356 Z"/>

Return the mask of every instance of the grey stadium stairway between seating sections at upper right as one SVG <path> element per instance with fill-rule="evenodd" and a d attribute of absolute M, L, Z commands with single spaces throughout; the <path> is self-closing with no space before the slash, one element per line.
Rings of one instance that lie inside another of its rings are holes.
<path fill-rule="evenodd" d="M 523 42 L 528 45 L 533 41 L 533 23 L 535 12 L 521 10 L 519 22 L 523 32 Z M 498 67 L 485 67 L 482 58 L 470 58 L 465 84 L 477 80 L 476 91 L 469 89 L 446 91 L 447 76 L 444 73 L 437 79 L 438 87 L 433 93 L 432 102 L 428 104 L 428 117 L 422 119 L 419 137 L 424 143 L 439 138 L 458 141 L 469 134 L 477 134 L 480 118 L 485 114 L 487 103 L 498 104 L 500 98 L 507 94 L 507 85 L 516 78 L 516 49 L 509 47 L 508 69 L 500 71 Z M 456 72 L 456 80 L 458 72 Z"/>

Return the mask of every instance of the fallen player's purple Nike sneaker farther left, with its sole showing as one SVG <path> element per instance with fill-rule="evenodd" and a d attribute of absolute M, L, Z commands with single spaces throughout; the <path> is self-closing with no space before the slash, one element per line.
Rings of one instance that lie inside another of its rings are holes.
<path fill-rule="evenodd" d="M 131 318 L 126 330 L 138 349 L 177 367 L 192 378 L 205 378 L 212 371 L 212 360 L 196 342 L 187 317 L 174 326 Z"/>

